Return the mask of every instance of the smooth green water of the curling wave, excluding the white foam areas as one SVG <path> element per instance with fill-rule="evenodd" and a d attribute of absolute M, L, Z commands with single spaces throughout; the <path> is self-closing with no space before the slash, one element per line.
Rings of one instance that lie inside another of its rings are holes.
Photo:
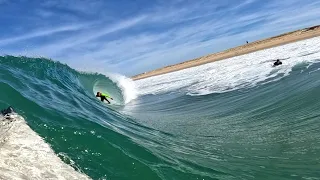
<path fill-rule="evenodd" d="M 149 94 L 128 104 L 123 87 L 104 75 L 46 59 L 0 63 L 0 108 L 13 106 L 65 163 L 92 179 L 320 177 L 319 63 L 247 89 Z M 116 105 L 101 103 L 97 90 Z"/>

